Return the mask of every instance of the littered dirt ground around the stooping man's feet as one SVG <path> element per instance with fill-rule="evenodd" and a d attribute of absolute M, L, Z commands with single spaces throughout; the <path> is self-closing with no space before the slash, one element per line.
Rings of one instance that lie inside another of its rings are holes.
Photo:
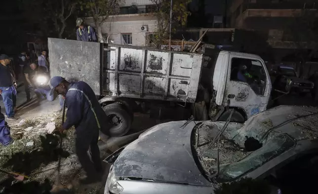
<path fill-rule="evenodd" d="M 109 165 L 103 162 L 104 175 L 102 182 L 87 186 L 79 186 L 76 180 L 83 174 L 77 156 L 74 152 L 74 128 L 66 131 L 63 137 L 62 150 L 58 148 L 59 135 L 50 133 L 49 126 L 60 127 L 62 113 L 59 101 L 34 99 L 25 103 L 23 87 L 18 89 L 17 121 L 10 121 L 13 143 L 6 147 L 0 146 L 0 166 L 10 172 L 29 176 L 28 181 L 15 182 L 0 173 L 0 194 L 46 194 L 50 191 L 56 178 L 58 155 L 61 154 L 61 184 L 74 185 L 74 194 L 103 194 L 108 176 Z M 2 113 L 5 112 L 0 99 Z M 135 114 L 132 129 L 127 136 L 111 138 L 107 143 L 99 141 L 101 159 L 107 157 L 122 145 L 135 140 L 145 129 L 162 121 L 150 119 L 147 115 Z M 142 123 L 142 125 L 141 125 Z M 111 142 L 111 143 L 109 143 Z"/>

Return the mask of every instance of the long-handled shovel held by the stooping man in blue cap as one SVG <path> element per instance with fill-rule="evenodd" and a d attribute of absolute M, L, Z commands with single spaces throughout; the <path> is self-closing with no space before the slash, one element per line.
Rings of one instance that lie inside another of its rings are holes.
<path fill-rule="evenodd" d="M 65 117 L 65 100 L 63 102 L 63 113 L 62 113 L 62 126 L 64 124 L 64 117 Z M 60 150 L 62 150 L 62 134 L 60 135 Z M 61 169 L 61 154 L 58 156 L 57 168 L 56 168 L 56 178 L 55 183 L 52 186 L 52 190 L 50 191 L 52 194 L 61 193 L 61 192 L 69 192 L 69 189 L 64 188 L 63 185 L 60 183 L 60 169 Z"/>

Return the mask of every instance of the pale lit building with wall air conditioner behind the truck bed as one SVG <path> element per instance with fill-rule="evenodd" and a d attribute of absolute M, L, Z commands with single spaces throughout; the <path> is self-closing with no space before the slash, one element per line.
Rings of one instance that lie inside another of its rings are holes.
<path fill-rule="evenodd" d="M 103 37 L 114 44 L 149 46 L 157 22 L 153 10 L 151 0 L 125 0 L 119 15 L 110 16 L 102 25 Z M 92 18 L 85 21 L 94 26 Z"/>

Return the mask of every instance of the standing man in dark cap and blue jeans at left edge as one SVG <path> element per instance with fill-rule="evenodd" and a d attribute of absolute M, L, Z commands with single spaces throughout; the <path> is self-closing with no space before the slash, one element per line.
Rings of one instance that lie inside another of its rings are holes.
<path fill-rule="evenodd" d="M 8 120 L 17 120 L 14 116 L 17 91 L 13 82 L 13 75 L 9 67 L 10 59 L 6 54 L 0 54 L 0 95 L 2 96 L 5 113 Z"/>

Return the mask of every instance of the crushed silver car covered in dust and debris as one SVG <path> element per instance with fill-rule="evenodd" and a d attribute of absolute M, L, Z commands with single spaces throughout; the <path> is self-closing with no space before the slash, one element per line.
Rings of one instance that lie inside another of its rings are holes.
<path fill-rule="evenodd" d="M 105 194 L 214 194 L 220 184 L 242 178 L 270 180 L 272 193 L 280 194 L 288 178 L 288 187 L 299 185 L 292 181 L 310 182 L 310 176 L 291 173 L 318 166 L 317 122 L 317 108 L 278 106 L 244 124 L 159 124 L 105 159 L 112 164 Z M 317 181 L 317 174 L 313 177 Z M 301 189 L 306 193 L 308 188 Z"/>

